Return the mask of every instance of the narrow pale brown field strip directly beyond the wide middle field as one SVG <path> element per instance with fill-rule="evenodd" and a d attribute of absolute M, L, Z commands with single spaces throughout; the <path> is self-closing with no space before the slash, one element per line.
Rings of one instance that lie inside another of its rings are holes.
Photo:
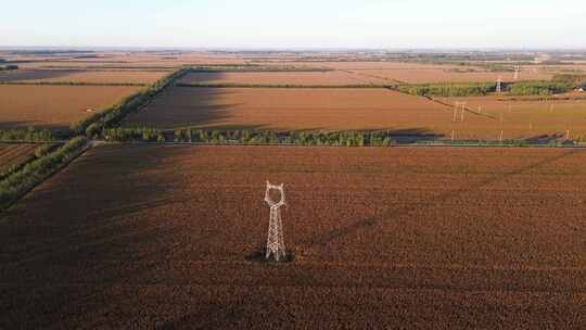
<path fill-rule="evenodd" d="M 250 85 L 370 85 L 388 84 L 385 79 L 352 73 L 333 72 L 243 72 L 192 73 L 180 82 L 187 84 L 250 84 Z"/>

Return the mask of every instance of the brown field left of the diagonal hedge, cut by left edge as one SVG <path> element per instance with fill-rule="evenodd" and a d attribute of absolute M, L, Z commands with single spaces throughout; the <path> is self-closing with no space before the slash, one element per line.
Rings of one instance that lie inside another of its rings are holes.
<path fill-rule="evenodd" d="M 66 128 L 141 87 L 0 86 L 0 129 Z"/>

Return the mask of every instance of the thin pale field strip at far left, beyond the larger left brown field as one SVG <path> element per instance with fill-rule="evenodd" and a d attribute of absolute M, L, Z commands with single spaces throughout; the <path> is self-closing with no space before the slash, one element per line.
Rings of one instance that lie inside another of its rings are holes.
<path fill-rule="evenodd" d="M 140 71 L 20 69 L 0 72 L 0 81 L 152 84 L 166 74 L 168 73 Z"/>

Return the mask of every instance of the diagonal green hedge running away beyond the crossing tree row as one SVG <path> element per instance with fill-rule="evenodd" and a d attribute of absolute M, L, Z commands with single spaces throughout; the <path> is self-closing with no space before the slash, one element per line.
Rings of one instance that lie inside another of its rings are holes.
<path fill-rule="evenodd" d="M 127 114 L 133 112 L 141 106 L 149 103 L 157 93 L 166 89 L 168 86 L 175 84 L 175 81 L 181 78 L 189 69 L 179 69 L 165 76 L 155 84 L 151 85 L 130 97 L 125 98 L 117 104 L 94 113 L 92 116 L 76 124 L 72 129 L 78 134 L 87 136 L 93 136 L 102 130 L 102 126 L 109 126 L 119 123 Z"/>

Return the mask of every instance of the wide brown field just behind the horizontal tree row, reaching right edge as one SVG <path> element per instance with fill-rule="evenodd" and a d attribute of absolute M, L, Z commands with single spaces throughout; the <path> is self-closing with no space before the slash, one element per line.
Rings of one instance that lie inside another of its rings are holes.
<path fill-rule="evenodd" d="M 434 102 L 386 89 L 174 88 L 125 125 L 163 129 L 391 130 L 456 139 L 535 139 L 586 135 L 586 101 L 499 101 L 498 97 Z M 463 122 L 455 102 L 467 102 Z M 511 110 L 509 111 L 509 103 Z M 502 113 L 502 119 L 501 119 Z"/>

